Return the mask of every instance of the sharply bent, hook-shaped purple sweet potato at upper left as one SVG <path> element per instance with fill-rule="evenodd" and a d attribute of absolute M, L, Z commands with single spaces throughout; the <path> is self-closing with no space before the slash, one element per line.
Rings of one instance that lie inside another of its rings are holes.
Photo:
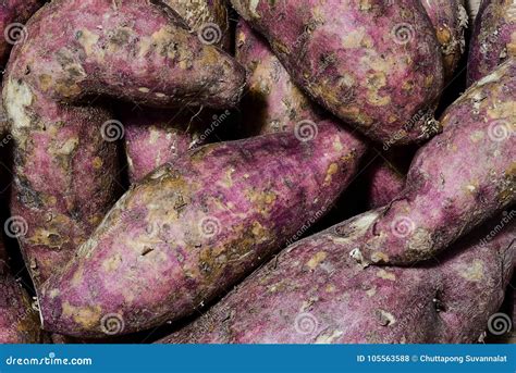
<path fill-rule="evenodd" d="M 234 105 L 245 71 L 202 45 L 170 9 L 145 0 L 52 1 L 27 34 L 13 50 L 3 103 L 15 139 L 11 209 L 27 222 L 20 241 L 38 286 L 118 197 L 112 116 L 96 105 L 98 96 Z"/>

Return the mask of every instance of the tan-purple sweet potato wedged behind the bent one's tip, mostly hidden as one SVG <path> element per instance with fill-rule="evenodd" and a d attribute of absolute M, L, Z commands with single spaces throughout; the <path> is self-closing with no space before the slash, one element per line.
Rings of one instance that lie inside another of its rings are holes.
<path fill-rule="evenodd" d="M 241 102 L 246 136 L 293 130 L 302 121 L 322 119 L 321 110 L 292 82 L 267 40 L 242 18 L 236 27 L 236 60 L 247 70 Z"/>

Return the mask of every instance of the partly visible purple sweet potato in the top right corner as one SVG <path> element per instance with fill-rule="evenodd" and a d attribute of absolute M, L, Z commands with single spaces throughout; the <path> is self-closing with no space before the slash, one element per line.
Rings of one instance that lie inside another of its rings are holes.
<path fill-rule="evenodd" d="M 516 3 L 483 0 L 475 22 L 468 58 L 468 85 L 516 57 Z"/>

